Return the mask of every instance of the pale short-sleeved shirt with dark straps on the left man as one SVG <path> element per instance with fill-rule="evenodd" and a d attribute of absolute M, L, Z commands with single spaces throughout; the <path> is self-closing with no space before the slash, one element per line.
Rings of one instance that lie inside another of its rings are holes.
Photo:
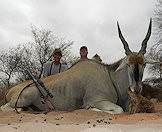
<path fill-rule="evenodd" d="M 56 73 L 63 72 L 67 69 L 68 69 L 67 64 L 60 63 L 56 65 L 52 61 L 49 61 L 44 65 L 43 76 L 46 77 L 46 76 L 54 75 Z"/>

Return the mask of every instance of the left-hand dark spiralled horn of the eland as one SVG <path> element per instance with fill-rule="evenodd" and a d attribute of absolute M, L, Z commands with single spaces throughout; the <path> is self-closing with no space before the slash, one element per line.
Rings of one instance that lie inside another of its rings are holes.
<path fill-rule="evenodd" d="M 121 33 L 121 30 L 120 30 L 120 27 L 119 27 L 119 23 L 117 22 L 117 26 L 118 26 L 118 34 L 119 34 L 119 38 L 120 40 L 122 41 L 123 45 L 124 45 L 124 49 L 125 49 L 125 54 L 126 55 L 129 55 L 131 54 L 131 50 L 129 49 L 129 45 L 127 43 L 127 41 L 124 39 L 122 33 Z"/>

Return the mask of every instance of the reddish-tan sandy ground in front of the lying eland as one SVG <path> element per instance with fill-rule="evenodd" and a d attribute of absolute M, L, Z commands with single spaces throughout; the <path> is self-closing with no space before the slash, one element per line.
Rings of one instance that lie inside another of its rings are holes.
<path fill-rule="evenodd" d="M 111 115 L 91 110 L 48 114 L 0 112 L 0 132 L 162 132 L 162 103 L 157 113 Z"/>

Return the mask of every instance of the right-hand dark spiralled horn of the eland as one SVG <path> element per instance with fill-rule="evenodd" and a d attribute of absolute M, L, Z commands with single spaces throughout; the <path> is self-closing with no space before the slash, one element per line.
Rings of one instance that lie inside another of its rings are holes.
<path fill-rule="evenodd" d="M 151 36 L 151 27 L 152 27 L 152 19 L 150 19 L 150 24 L 149 24 L 149 28 L 148 28 L 148 31 L 147 31 L 147 35 L 142 42 L 142 47 L 141 47 L 139 53 L 142 53 L 142 54 L 146 53 L 147 41 L 149 40 L 149 38 Z"/>

